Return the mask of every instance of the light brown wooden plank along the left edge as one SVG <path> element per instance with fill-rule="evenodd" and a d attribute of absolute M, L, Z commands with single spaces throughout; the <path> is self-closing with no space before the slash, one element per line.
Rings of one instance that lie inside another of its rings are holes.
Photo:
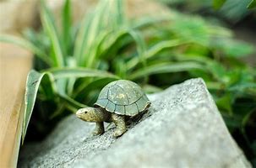
<path fill-rule="evenodd" d="M 16 167 L 23 113 L 25 81 L 31 54 L 0 43 L 0 167 Z"/>

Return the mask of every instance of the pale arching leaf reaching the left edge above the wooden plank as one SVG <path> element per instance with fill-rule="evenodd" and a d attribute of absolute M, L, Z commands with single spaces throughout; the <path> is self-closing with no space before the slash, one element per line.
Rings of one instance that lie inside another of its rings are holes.
<path fill-rule="evenodd" d="M 25 48 L 26 50 L 30 50 L 30 52 L 34 53 L 38 56 L 38 58 L 46 62 L 48 66 L 52 66 L 52 60 L 49 58 L 49 56 L 47 56 L 43 50 L 33 45 L 32 43 L 30 43 L 30 41 L 26 39 L 15 37 L 13 35 L 4 34 L 0 35 L 0 41 L 11 43 L 14 45 L 19 45 L 20 47 Z"/>

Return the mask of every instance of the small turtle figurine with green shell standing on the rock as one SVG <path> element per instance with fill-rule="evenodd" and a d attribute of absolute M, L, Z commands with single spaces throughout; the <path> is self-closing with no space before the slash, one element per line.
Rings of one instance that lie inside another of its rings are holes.
<path fill-rule="evenodd" d="M 150 108 L 149 98 L 141 87 L 133 81 L 112 81 L 103 87 L 94 104 L 94 108 L 80 108 L 76 115 L 78 118 L 95 122 L 94 135 L 104 133 L 103 122 L 113 122 L 116 125 L 114 136 L 121 136 L 127 131 L 128 118 L 144 112 Z"/>

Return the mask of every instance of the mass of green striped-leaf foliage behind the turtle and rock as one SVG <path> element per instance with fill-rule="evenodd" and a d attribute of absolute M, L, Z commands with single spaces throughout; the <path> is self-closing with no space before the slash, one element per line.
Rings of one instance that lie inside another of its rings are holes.
<path fill-rule="evenodd" d="M 136 81 L 152 93 L 202 77 L 231 134 L 240 134 L 237 142 L 255 164 L 256 73 L 240 60 L 253 52 L 252 45 L 232 39 L 229 29 L 199 16 L 170 11 L 129 20 L 121 0 L 101 1 L 75 26 L 70 10 L 66 0 L 60 29 L 42 1 L 40 32 L 28 30 L 25 39 L 0 37 L 35 53 L 36 71 L 28 75 L 25 94 L 23 139 L 29 122 L 34 135 L 48 132 L 58 119 L 91 106 L 110 81 Z"/>

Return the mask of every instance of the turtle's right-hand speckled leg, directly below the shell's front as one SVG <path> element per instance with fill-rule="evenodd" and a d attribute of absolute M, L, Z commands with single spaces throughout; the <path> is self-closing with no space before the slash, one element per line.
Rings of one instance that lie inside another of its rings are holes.
<path fill-rule="evenodd" d="M 115 125 L 117 127 L 113 134 L 114 137 L 119 137 L 127 131 L 125 120 L 124 120 L 123 116 L 118 115 L 116 113 L 112 113 L 112 121 L 113 121 L 113 123 L 115 123 Z"/>

